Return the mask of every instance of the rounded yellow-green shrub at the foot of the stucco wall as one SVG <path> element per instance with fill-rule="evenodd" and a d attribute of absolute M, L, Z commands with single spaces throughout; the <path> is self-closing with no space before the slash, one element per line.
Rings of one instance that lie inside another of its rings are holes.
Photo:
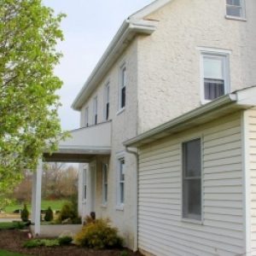
<path fill-rule="evenodd" d="M 123 239 L 118 236 L 118 230 L 111 227 L 108 219 L 96 219 L 85 224 L 75 237 L 75 242 L 83 247 L 104 249 L 122 247 Z"/>

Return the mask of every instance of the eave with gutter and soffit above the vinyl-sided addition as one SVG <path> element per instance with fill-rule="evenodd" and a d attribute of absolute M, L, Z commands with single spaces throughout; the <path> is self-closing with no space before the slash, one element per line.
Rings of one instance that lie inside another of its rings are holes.
<path fill-rule="evenodd" d="M 195 108 L 189 113 L 159 125 L 152 130 L 146 131 L 137 137 L 131 138 L 124 143 L 125 147 L 137 148 L 143 144 L 170 136 L 174 133 L 187 130 L 193 126 L 204 124 L 228 113 L 234 113 L 239 109 L 253 108 L 256 106 L 256 87 L 235 91 L 222 96 L 215 101 L 209 102 L 200 108 Z"/>

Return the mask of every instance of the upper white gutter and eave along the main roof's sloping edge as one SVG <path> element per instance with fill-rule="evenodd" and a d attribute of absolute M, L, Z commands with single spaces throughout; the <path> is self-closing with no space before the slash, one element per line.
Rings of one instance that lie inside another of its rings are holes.
<path fill-rule="evenodd" d="M 136 34 L 142 33 L 150 35 L 156 29 L 157 22 L 154 20 L 125 20 L 119 31 L 114 36 L 108 49 L 102 55 L 102 58 L 97 63 L 96 67 L 90 74 L 79 95 L 75 98 L 72 108 L 80 110 L 84 101 L 90 96 L 96 85 L 101 82 L 103 76 L 108 72 L 113 62 L 119 57 L 120 53 L 130 44 Z"/>

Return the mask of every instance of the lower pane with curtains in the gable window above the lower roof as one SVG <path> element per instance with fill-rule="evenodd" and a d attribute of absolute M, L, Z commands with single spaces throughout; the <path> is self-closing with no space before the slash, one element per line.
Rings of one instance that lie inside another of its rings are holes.
<path fill-rule="evenodd" d="M 205 99 L 214 100 L 224 95 L 224 80 L 205 79 Z"/>

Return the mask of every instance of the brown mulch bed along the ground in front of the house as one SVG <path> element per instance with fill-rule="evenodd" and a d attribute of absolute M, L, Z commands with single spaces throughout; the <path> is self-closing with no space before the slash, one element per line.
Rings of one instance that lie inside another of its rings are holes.
<path fill-rule="evenodd" d="M 28 231 L 24 230 L 0 230 L 0 248 L 35 256 L 120 256 L 124 250 L 129 256 L 141 255 L 140 253 L 132 253 L 127 249 L 95 251 L 76 246 L 24 248 L 22 245 L 28 240 L 27 233 Z"/>

